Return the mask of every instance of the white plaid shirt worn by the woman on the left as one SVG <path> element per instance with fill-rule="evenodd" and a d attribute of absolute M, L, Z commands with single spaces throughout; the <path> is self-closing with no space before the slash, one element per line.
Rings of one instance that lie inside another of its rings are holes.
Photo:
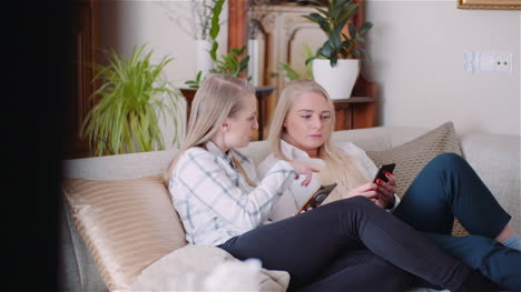
<path fill-rule="evenodd" d="M 289 163 L 279 161 L 258 181 L 254 164 L 240 152 L 225 153 L 213 142 L 205 147 L 190 148 L 180 157 L 168 189 L 187 241 L 218 245 L 265 223 L 296 173 Z M 246 182 L 232 155 L 257 188 Z"/>

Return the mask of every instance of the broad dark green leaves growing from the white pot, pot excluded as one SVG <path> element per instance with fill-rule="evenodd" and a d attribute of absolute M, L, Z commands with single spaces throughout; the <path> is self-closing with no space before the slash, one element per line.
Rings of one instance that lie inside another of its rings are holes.
<path fill-rule="evenodd" d="M 306 0 L 321 6 L 321 2 Z M 317 12 L 303 16 L 304 18 L 317 23 L 322 31 L 327 36 L 327 40 L 316 51 L 316 54 L 306 60 L 306 63 L 316 58 L 328 59 L 331 67 L 335 67 L 338 59 L 361 59 L 371 60 L 367 51 L 360 47 L 365 42 L 363 36 L 373 27 L 373 23 L 366 21 L 360 30 L 353 23 L 348 23 L 348 34 L 342 32 L 347 21 L 352 19 L 358 7 L 352 0 L 327 0 L 326 9 L 316 7 Z"/>

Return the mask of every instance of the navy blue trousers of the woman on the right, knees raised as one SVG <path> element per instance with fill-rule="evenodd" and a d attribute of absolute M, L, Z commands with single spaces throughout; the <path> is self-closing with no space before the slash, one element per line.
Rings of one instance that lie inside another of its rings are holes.
<path fill-rule="evenodd" d="M 460 155 L 444 153 L 429 162 L 394 215 L 502 289 L 521 291 L 521 252 L 493 240 L 511 217 Z M 472 235 L 450 235 L 454 217 Z"/>

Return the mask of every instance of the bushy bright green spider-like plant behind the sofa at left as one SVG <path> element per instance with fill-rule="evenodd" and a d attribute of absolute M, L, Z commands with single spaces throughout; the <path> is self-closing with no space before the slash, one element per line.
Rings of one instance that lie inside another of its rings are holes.
<path fill-rule="evenodd" d="M 164 57 L 151 64 L 153 51 L 144 53 L 145 46 L 134 48 L 128 59 L 121 59 L 114 50 L 107 52 L 108 64 L 95 64 L 94 80 L 101 85 L 91 94 L 99 98 L 87 114 L 82 135 L 89 141 L 95 155 L 164 149 L 159 115 L 174 115 L 180 93 L 160 73 L 173 59 Z M 178 121 L 174 118 L 174 127 Z M 178 144 L 177 134 L 174 143 Z"/>

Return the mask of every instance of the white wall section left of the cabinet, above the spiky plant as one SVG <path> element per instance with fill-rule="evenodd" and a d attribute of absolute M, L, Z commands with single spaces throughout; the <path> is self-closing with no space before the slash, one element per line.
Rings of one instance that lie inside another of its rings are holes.
<path fill-rule="evenodd" d="M 175 58 L 165 73 L 175 84 L 184 85 L 196 75 L 195 39 L 180 28 L 193 24 L 191 3 L 190 0 L 106 1 L 100 4 L 101 47 L 129 54 L 134 46 L 148 44 L 155 51 L 155 60 L 167 54 Z M 225 4 L 220 14 L 218 54 L 227 50 L 227 14 Z"/>

